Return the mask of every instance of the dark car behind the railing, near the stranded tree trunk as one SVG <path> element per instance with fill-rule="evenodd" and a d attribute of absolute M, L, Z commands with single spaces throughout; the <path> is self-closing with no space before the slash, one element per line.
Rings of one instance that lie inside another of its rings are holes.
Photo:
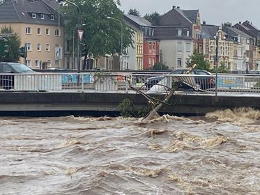
<path fill-rule="evenodd" d="M 185 75 L 187 74 L 188 69 L 179 69 L 179 70 L 174 70 L 169 73 L 169 75 Z M 198 70 L 198 69 L 193 69 L 189 75 L 207 75 L 206 77 L 194 77 L 194 80 L 196 82 L 197 88 L 201 89 L 207 89 L 207 88 L 214 88 L 215 87 L 215 77 L 211 72 L 208 72 L 206 70 Z M 208 77 L 211 76 L 212 77 Z M 165 76 L 158 76 L 158 77 L 150 77 L 146 80 L 146 87 L 151 88 L 153 85 L 158 84 Z M 181 83 L 179 84 L 178 88 L 182 89 L 190 89 L 191 87 L 188 86 L 187 84 Z"/>

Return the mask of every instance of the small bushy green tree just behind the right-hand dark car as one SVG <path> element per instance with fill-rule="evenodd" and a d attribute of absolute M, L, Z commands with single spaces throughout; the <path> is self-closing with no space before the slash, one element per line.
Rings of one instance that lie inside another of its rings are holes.
<path fill-rule="evenodd" d="M 187 66 L 191 67 L 194 64 L 197 64 L 196 68 L 199 70 L 210 69 L 209 63 L 204 59 L 204 54 L 198 52 L 197 49 L 194 49 L 193 54 L 190 56 L 190 62 L 187 63 Z"/>

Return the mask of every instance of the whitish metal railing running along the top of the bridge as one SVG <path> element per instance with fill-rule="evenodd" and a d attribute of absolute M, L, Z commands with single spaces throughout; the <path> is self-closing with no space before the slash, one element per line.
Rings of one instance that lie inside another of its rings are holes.
<path fill-rule="evenodd" d="M 132 91 L 165 93 L 171 82 L 178 91 L 260 94 L 259 75 L 167 75 L 131 72 L 57 72 L 0 74 L 1 91 Z M 217 85 L 216 85 L 217 84 Z M 217 87 L 216 87 L 217 86 Z M 217 91 L 216 91 L 217 89 Z"/>

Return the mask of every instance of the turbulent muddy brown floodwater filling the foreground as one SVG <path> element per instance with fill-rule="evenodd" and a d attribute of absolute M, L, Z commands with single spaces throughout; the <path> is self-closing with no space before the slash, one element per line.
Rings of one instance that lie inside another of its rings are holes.
<path fill-rule="evenodd" d="M 260 112 L 0 118 L 0 194 L 260 194 Z"/>

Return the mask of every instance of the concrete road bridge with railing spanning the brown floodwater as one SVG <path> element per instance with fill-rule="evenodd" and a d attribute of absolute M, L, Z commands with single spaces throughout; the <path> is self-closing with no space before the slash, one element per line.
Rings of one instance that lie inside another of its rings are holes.
<path fill-rule="evenodd" d="M 122 73 L 119 75 L 120 77 L 112 74 L 103 75 L 104 77 L 98 75 L 98 79 L 93 78 L 95 80 L 93 82 L 84 83 L 84 79 L 81 79 L 80 83 L 63 83 L 60 74 L 40 75 L 45 78 L 52 76 L 52 79 L 48 79 L 52 81 L 52 84 L 47 84 L 45 90 L 38 90 L 39 86 L 31 86 L 32 84 L 38 85 L 35 79 L 32 79 L 34 76 L 30 77 L 31 81 L 26 81 L 23 78 L 20 80 L 20 84 L 16 84 L 20 88 L 24 87 L 25 90 L 0 90 L 0 115 L 68 116 L 73 114 L 81 116 L 119 116 L 118 105 L 125 98 L 132 101 L 134 111 L 147 106 L 148 101 L 144 98 L 144 95 L 140 95 L 129 88 L 129 84 L 131 84 L 139 87 L 143 92 L 147 92 L 148 89 L 143 84 L 137 83 L 137 77 L 140 78 L 144 75 L 122 76 Z M 55 75 L 58 79 L 55 78 Z M 83 78 L 84 75 L 79 76 Z M 125 80 L 125 78 L 131 78 L 131 80 Z M 229 76 L 229 84 L 230 81 L 235 81 L 234 77 L 232 78 Z M 236 107 L 260 109 L 260 93 L 258 93 L 259 88 L 257 85 L 259 81 L 257 79 L 259 77 L 252 77 L 251 79 L 247 77 L 245 79 L 243 76 L 246 85 L 244 88 L 240 85 L 236 87 L 234 83 L 233 86 L 227 86 L 227 88 L 218 88 L 217 93 L 215 93 L 214 88 L 208 88 L 204 91 L 176 91 L 169 101 L 171 106 L 163 107 L 160 112 L 178 116 L 201 116 L 211 111 L 234 109 Z M 18 80 L 19 78 L 15 81 Z M 37 80 L 39 81 L 39 78 Z M 53 84 L 56 80 L 59 81 Z M 43 81 L 40 83 L 43 84 Z M 254 88 L 252 86 L 247 87 L 249 83 L 253 83 Z M 26 84 L 29 86 L 26 86 Z M 165 93 L 149 93 L 149 95 L 162 99 L 165 97 Z"/>

